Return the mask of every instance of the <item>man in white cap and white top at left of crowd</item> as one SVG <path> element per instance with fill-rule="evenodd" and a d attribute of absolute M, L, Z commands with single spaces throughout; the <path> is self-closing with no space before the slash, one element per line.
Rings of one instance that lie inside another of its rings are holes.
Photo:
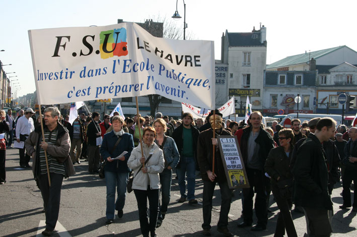
<path fill-rule="evenodd" d="M 35 130 L 34 123 L 31 117 L 34 113 L 35 111 L 33 111 L 32 108 L 27 108 L 25 115 L 17 120 L 15 130 L 17 142 L 25 142 L 30 133 Z M 31 167 L 29 164 L 30 156 L 28 154 L 25 154 L 25 146 L 19 149 L 19 154 L 20 167 Z"/>

